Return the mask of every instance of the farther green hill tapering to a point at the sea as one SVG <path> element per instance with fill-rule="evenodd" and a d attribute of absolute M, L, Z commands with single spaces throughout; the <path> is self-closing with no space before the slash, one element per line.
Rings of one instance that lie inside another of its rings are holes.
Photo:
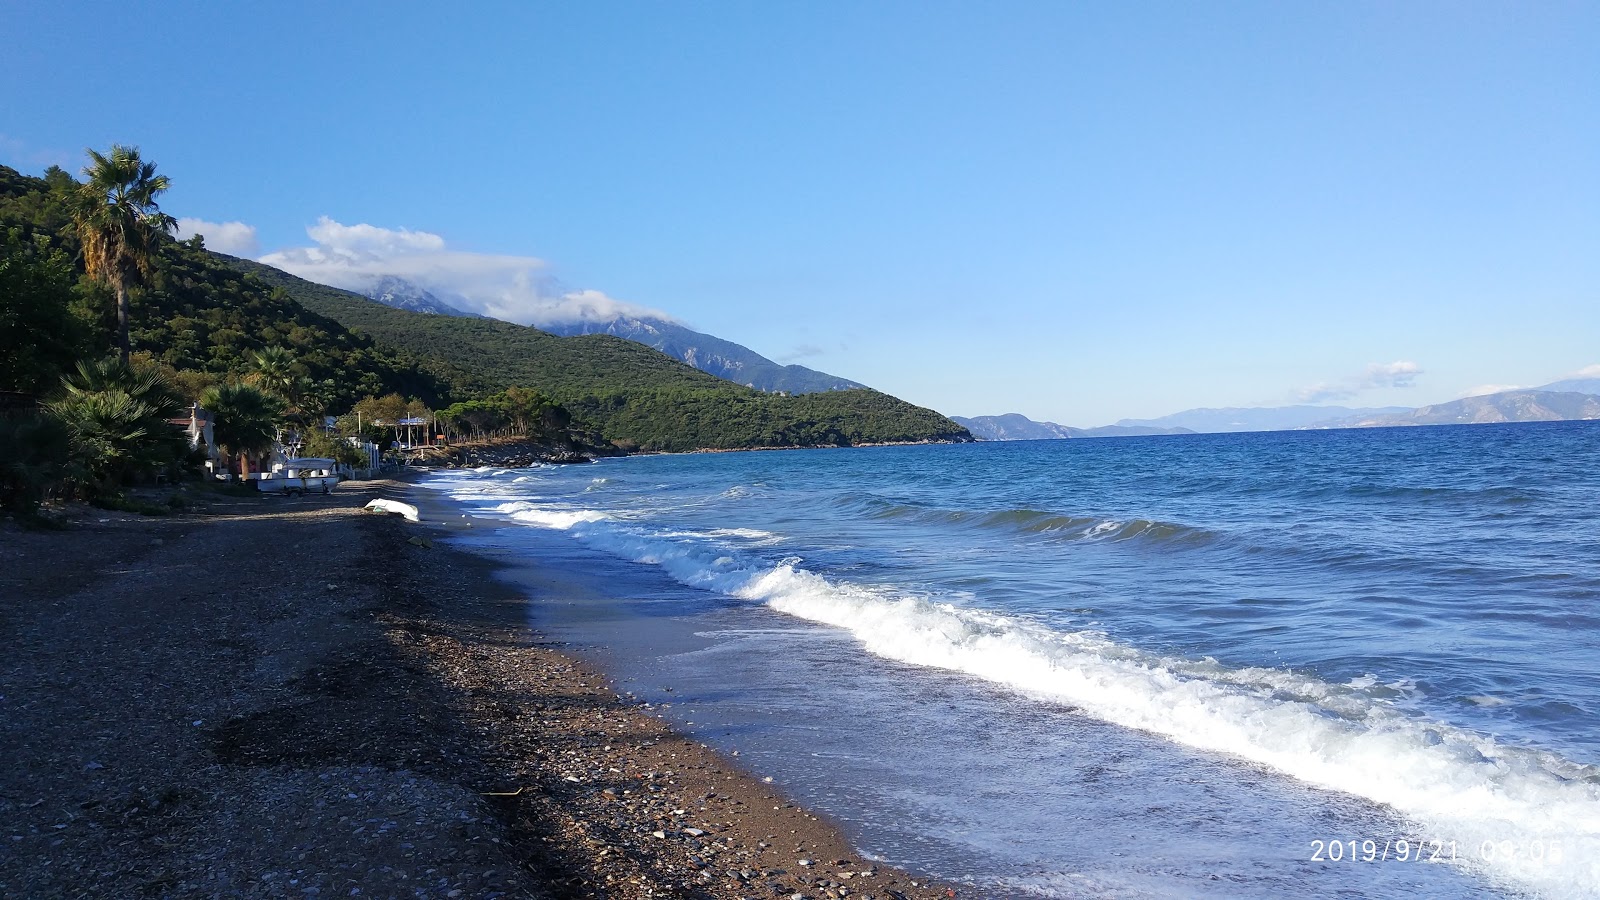
<path fill-rule="evenodd" d="M 838 447 L 968 439 L 966 429 L 939 413 L 877 391 L 763 394 L 610 335 L 557 338 L 496 319 L 408 312 L 261 263 L 222 259 L 381 343 L 437 357 L 494 388 L 518 384 L 544 391 L 629 447 Z"/>

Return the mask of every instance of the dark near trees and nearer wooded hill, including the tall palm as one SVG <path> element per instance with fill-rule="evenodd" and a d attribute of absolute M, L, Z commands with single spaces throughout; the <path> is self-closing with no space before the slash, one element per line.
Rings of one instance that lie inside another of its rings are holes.
<path fill-rule="evenodd" d="M 429 402 L 459 434 L 568 421 L 526 389 L 458 399 L 442 367 L 250 283 L 203 239 L 174 240 L 170 179 L 136 147 L 88 159 L 82 181 L 0 167 L 0 506 L 114 503 L 138 480 L 198 471 L 205 448 L 174 424 L 192 404 L 235 471 L 285 440 L 354 464 L 352 437 L 384 442 L 386 413 L 434 418 Z M 339 416 L 358 407 L 366 429 Z"/>

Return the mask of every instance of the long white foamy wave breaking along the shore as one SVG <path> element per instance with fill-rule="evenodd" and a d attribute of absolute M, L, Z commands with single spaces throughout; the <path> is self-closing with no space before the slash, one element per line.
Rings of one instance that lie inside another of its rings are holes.
<path fill-rule="evenodd" d="M 1600 770 L 1408 713 L 1386 700 L 1403 685 L 1154 655 L 1096 631 L 824 578 L 798 557 L 758 562 L 594 509 L 517 501 L 496 511 L 659 565 L 685 585 L 843 628 L 880 657 L 968 673 L 1387 804 L 1414 823 L 1408 838 L 1453 842 L 1456 860 L 1491 882 L 1549 897 L 1600 894 Z"/>

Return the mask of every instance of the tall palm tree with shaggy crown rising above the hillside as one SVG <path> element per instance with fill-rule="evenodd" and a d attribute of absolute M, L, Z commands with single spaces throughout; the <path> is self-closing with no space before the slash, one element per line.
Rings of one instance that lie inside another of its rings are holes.
<path fill-rule="evenodd" d="M 88 151 L 85 184 L 72 203 L 72 223 L 83 243 L 88 275 L 117 293 L 117 352 L 128 362 L 128 288 L 142 283 L 155 263 L 157 234 L 178 224 L 155 203 L 170 186 L 138 147 L 112 144 L 110 154 Z"/>

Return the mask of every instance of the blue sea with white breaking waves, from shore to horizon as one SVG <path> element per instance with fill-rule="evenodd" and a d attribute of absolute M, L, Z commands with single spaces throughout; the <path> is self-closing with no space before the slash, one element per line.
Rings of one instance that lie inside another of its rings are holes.
<path fill-rule="evenodd" d="M 1595 897 L 1597 463 L 1549 423 L 424 484 L 619 690 L 976 895 Z"/>

